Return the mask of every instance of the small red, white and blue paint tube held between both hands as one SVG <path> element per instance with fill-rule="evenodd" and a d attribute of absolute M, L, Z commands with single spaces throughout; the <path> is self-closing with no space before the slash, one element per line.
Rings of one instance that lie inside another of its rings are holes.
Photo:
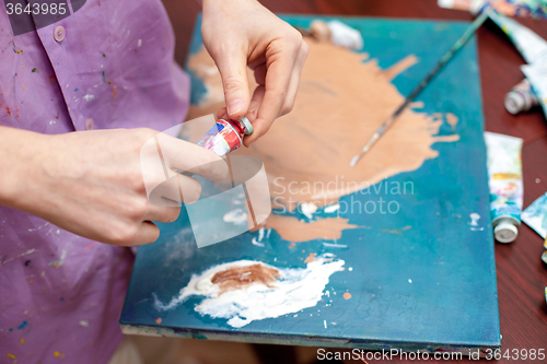
<path fill-rule="evenodd" d="M 253 133 L 253 126 L 246 117 L 237 120 L 219 119 L 199 140 L 197 145 L 203 146 L 219 156 L 235 151 L 243 143 L 243 137 Z"/>

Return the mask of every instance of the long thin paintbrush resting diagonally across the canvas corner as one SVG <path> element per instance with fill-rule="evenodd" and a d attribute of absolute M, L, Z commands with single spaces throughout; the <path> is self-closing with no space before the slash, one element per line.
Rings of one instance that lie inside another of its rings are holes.
<path fill-rule="evenodd" d="M 442 70 L 442 68 L 454 57 L 454 55 L 469 40 L 473 34 L 485 23 L 488 19 L 488 15 L 492 11 L 492 8 L 486 9 L 465 31 L 465 33 L 456 40 L 456 43 L 452 46 L 452 48 L 441 58 L 441 60 L 435 64 L 435 67 L 426 75 L 426 78 L 412 90 L 410 95 L 408 95 L 405 102 L 392 114 L 392 116 L 384 122 L 380 128 L 372 134 L 366 144 L 361 149 L 361 151 L 351 158 L 349 165 L 351 167 L 356 166 L 356 164 L 363 157 L 366 152 L 371 150 L 371 148 L 376 143 L 376 141 L 382 138 L 382 136 L 386 132 L 386 130 L 395 122 L 397 117 L 405 110 L 405 108 L 410 104 L 416 96 L 426 87 L 429 82 Z"/>

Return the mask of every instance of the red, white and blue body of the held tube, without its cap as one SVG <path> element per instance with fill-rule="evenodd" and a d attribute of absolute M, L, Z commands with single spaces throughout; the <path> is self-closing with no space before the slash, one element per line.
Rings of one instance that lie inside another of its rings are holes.
<path fill-rule="evenodd" d="M 223 156 L 240 148 L 242 141 L 242 137 L 230 121 L 219 119 L 196 144 Z"/>

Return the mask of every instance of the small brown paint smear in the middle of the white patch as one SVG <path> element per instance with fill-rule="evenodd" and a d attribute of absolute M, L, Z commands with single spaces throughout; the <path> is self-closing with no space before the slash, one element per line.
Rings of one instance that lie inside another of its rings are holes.
<path fill-rule="evenodd" d="M 253 265 L 217 272 L 211 278 L 211 282 L 219 285 L 219 294 L 222 294 L 226 291 L 238 290 L 254 283 L 261 283 L 271 287 L 271 284 L 277 282 L 276 277 L 281 278 L 277 269 L 264 265 Z"/>

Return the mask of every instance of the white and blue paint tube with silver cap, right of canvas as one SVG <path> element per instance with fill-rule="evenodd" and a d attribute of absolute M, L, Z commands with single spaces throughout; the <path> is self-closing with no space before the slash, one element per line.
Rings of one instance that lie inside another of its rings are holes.
<path fill-rule="evenodd" d="M 522 139 L 485 132 L 493 235 L 511 243 L 519 235 L 523 201 Z"/>

